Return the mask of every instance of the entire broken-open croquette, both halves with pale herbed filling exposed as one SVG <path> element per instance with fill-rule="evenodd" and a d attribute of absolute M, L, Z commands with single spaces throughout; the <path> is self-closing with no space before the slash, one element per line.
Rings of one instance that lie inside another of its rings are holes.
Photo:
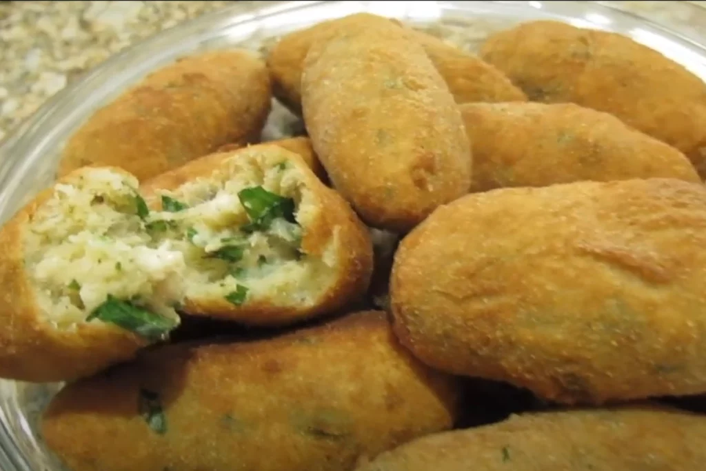
<path fill-rule="evenodd" d="M 301 157 L 257 145 L 212 163 L 143 189 L 84 167 L 3 227 L 1 377 L 92 374 L 166 340 L 176 309 L 273 326 L 364 296 L 369 233 Z"/>

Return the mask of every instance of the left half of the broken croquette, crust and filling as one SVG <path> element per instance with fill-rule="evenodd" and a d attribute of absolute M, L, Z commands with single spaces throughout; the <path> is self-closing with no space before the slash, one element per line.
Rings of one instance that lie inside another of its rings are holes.
<path fill-rule="evenodd" d="M 4 225 L 0 376 L 86 376 L 178 325 L 184 257 L 148 244 L 145 210 L 135 177 L 86 167 Z"/>

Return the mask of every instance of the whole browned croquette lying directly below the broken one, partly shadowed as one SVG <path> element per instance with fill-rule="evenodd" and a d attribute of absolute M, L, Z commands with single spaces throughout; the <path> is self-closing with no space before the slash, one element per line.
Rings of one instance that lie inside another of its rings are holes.
<path fill-rule="evenodd" d="M 140 417 L 140 388 L 160 396 L 166 433 Z M 62 390 L 42 435 L 73 471 L 340 471 L 449 429 L 458 397 L 455 379 L 367 312 L 271 340 L 147 352 Z"/>

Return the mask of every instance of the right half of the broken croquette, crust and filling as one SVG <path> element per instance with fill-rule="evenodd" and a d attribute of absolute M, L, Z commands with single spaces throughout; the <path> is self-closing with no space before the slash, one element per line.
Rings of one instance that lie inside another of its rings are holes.
<path fill-rule="evenodd" d="M 213 165 L 196 160 L 142 187 L 153 237 L 184 254 L 184 312 L 284 324 L 365 294 L 368 229 L 299 155 L 261 144 L 205 163 Z"/>

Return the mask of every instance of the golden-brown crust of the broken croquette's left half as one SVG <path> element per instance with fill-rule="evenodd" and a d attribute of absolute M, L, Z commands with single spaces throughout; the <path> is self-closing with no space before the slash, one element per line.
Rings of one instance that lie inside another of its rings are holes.
<path fill-rule="evenodd" d="M 59 183 L 73 181 L 80 173 L 81 170 L 72 172 Z M 25 270 L 24 239 L 37 208 L 53 193 L 53 189 L 40 193 L 0 230 L 3 378 L 34 382 L 73 380 L 131 358 L 146 345 L 143 338 L 112 324 L 92 322 L 78 324 L 75 330 L 59 330 L 44 317 Z"/>

